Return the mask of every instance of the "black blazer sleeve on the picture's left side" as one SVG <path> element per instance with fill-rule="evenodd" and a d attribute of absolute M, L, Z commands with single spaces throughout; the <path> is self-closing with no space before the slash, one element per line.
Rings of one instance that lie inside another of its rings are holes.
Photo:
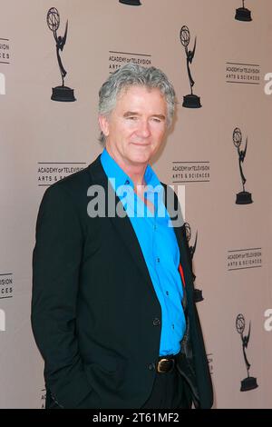
<path fill-rule="evenodd" d="M 70 197 L 62 184 L 44 194 L 36 223 L 31 313 L 46 389 L 63 408 L 88 407 L 92 395 L 75 333 L 83 232 Z"/>

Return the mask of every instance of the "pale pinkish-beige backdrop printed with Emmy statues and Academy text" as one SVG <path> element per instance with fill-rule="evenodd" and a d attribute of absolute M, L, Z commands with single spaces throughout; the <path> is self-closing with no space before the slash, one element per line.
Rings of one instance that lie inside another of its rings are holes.
<path fill-rule="evenodd" d="M 271 408 L 271 1 L 0 5 L 0 407 L 44 407 L 30 325 L 37 209 L 102 151 L 98 90 L 131 62 L 160 67 L 177 92 L 154 168 L 188 223 L 214 407 Z"/>

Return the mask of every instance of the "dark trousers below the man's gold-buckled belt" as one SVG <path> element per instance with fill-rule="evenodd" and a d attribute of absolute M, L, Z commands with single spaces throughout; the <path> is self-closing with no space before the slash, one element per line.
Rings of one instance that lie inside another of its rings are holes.
<path fill-rule="evenodd" d="M 191 402 L 185 388 L 184 380 L 176 367 L 168 373 L 156 372 L 151 395 L 142 408 L 189 409 Z"/>

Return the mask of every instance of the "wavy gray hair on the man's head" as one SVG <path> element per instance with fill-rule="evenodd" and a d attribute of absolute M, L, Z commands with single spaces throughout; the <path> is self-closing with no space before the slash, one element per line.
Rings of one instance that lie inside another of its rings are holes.
<path fill-rule="evenodd" d="M 99 91 L 99 114 L 109 117 L 114 109 L 118 95 L 130 86 L 144 86 L 149 89 L 159 89 L 167 104 L 167 124 L 170 126 L 175 113 L 175 90 L 168 77 L 159 68 L 126 64 L 110 74 Z M 99 141 L 105 142 L 101 132 Z"/>

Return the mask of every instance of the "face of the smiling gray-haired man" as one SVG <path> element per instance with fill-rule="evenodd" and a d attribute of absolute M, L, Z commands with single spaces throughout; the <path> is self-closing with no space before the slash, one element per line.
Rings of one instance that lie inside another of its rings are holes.
<path fill-rule="evenodd" d="M 109 154 L 121 167 L 148 164 L 163 140 L 166 117 L 167 104 L 159 89 L 124 89 L 110 117 L 99 117 Z"/>

